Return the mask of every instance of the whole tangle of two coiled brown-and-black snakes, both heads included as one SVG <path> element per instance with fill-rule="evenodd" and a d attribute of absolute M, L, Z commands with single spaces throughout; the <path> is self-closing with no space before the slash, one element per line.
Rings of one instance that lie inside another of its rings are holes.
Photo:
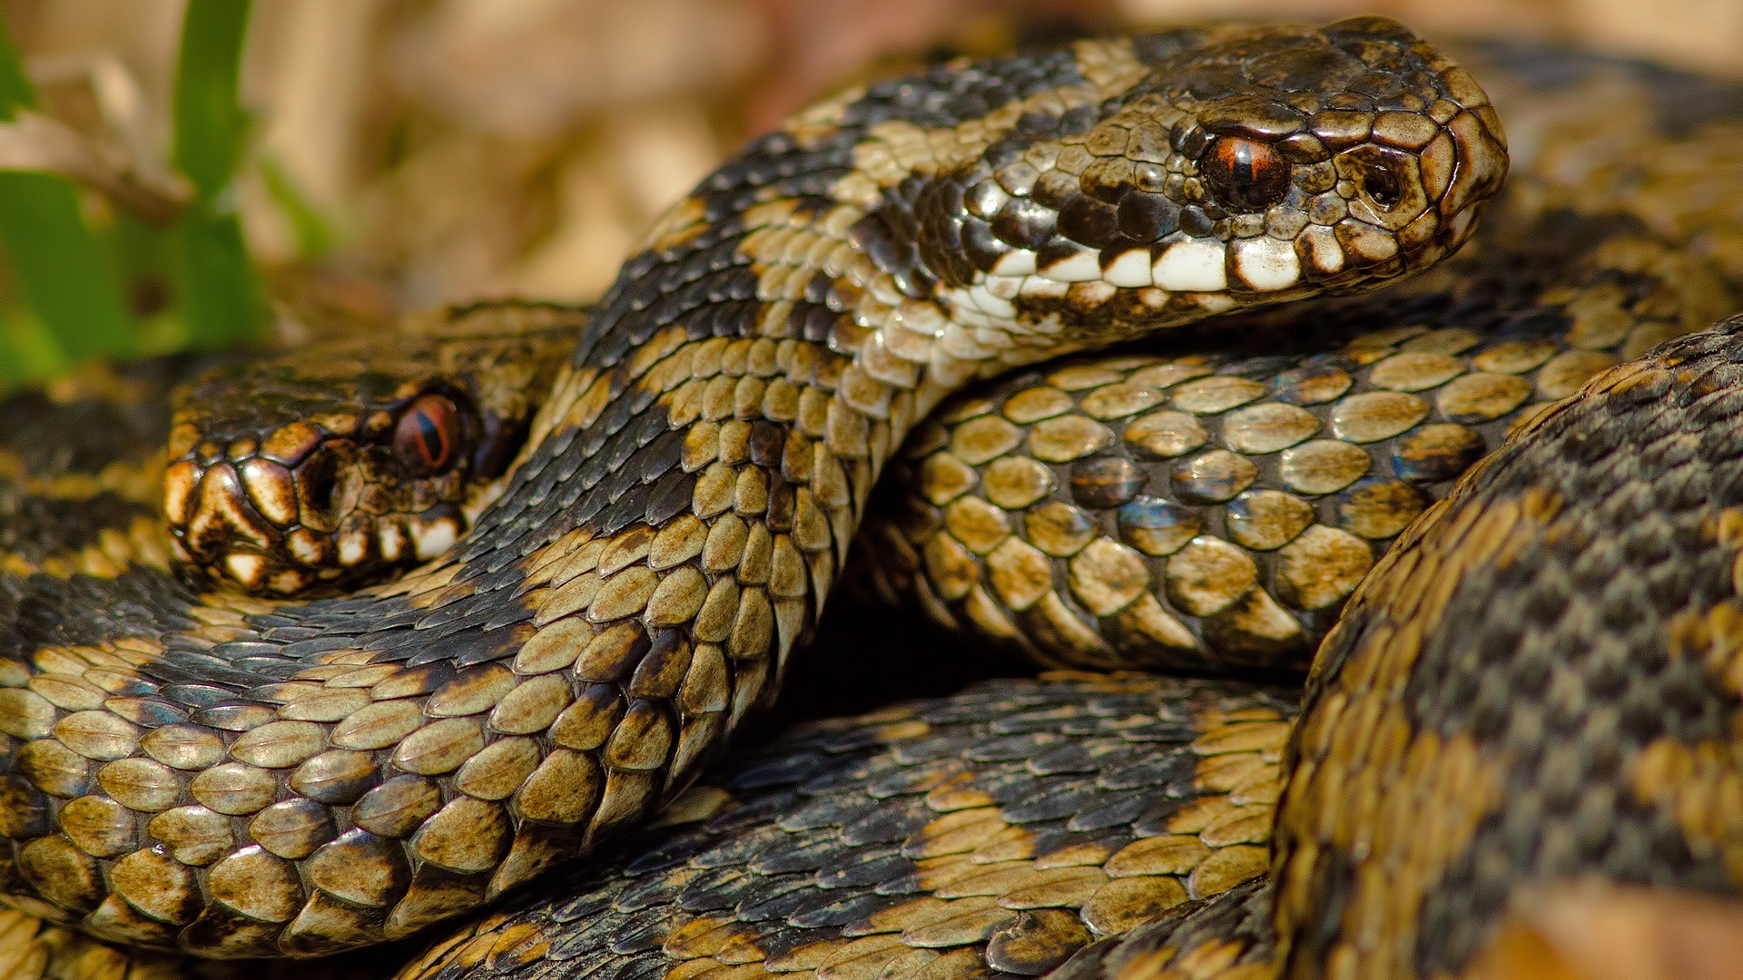
<path fill-rule="evenodd" d="M 1647 349 L 1736 309 L 1740 101 L 1466 61 L 1576 103 L 1480 227 L 1495 110 L 1391 21 L 1079 42 L 795 117 L 593 310 L 220 370 L 139 467 L 12 446 L 9 970 L 1443 975 L 1537 881 L 1731 891 L 1729 333 Z M 856 575 L 1063 670 L 697 783 Z"/>

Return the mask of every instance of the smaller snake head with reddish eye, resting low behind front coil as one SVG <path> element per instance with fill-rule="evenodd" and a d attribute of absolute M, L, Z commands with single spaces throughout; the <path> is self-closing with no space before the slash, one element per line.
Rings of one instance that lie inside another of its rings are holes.
<path fill-rule="evenodd" d="M 178 558 L 291 595 L 441 555 L 498 490 L 582 319 L 443 312 L 178 389 L 164 495 Z"/>

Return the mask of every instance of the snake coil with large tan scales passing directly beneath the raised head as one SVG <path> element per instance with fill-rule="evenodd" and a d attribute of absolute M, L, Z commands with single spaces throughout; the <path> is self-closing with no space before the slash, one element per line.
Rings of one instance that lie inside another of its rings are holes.
<path fill-rule="evenodd" d="M 1541 52 L 1461 56 L 1530 150 L 1471 249 L 1368 302 L 946 405 L 873 507 L 868 584 L 1042 664 L 1300 671 L 1393 537 L 1511 427 L 1736 309 L 1734 92 L 1569 54 L 1579 82 L 1546 85 L 1516 70 Z M 1710 115 L 1666 131 L 1680 101 Z"/>

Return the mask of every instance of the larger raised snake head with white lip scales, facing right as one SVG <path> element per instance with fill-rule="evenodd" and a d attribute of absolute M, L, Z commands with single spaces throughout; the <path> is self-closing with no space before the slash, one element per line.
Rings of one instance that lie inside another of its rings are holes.
<path fill-rule="evenodd" d="M 927 333 L 981 377 L 1428 267 L 1508 169 L 1475 78 L 1384 17 L 1089 40 L 1032 65 L 1048 85 L 953 65 L 788 127 L 866 126 L 835 187 L 866 211 L 851 239 L 943 307 L 962 337 Z M 945 126 L 971 98 L 1006 101 Z"/>

